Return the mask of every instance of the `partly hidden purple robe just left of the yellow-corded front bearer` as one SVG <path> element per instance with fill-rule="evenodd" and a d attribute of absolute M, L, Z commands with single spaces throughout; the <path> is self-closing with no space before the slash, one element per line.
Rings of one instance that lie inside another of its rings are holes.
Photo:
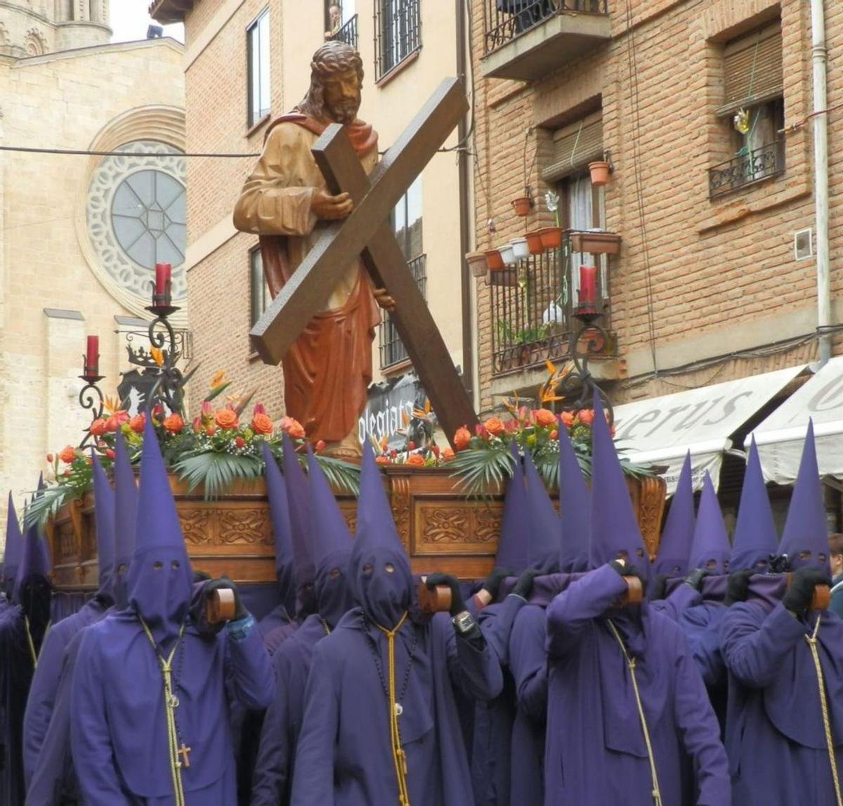
<path fill-rule="evenodd" d="M 319 615 L 303 625 L 272 656 L 275 699 L 266 710 L 252 785 L 252 806 L 289 803 L 293 763 L 304 716 L 304 689 L 316 642 L 325 637 Z"/>

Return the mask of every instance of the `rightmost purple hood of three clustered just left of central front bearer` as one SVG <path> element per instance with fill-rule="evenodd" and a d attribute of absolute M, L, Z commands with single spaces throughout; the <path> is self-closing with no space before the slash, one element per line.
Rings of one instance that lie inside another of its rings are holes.
<path fill-rule="evenodd" d="M 308 445 L 310 513 L 313 529 L 316 580 L 314 591 L 319 615 L 335 627 L 352 607 L 348 589 L 348 563 L 352 557 L 352 533 L 331 492 L 328 480 Z"/>

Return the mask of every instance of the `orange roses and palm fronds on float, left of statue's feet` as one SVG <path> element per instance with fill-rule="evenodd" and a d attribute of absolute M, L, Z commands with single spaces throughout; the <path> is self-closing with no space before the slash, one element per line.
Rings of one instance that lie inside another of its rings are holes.
<path fill-rule="evenodd" d="M 200 414 L 190 424 L 185 422 L 184 412 L 168 412 L 160 405 L 150 413 L 164 462 L 190 490 L 203 486 L 207 499 L 223 494 L 237 479 L 263 476 L 262 444 L 268 443 L 276 459 L 281 459 L 283 433 L 292 440 L 299 461 L 306 464 L 302 424 L 287 416 L 274 422 L 261 403 L 256 403 L 250 416 L 247 415 L 246 409 L 254 392 L 228 395 L 222 406 L 215 408 L 212 405 L 230 384 L 224 373 L 214 375 L 211 390 L 202 400 Z M 113 466 L 118 431 L 126 440 L 132 462 L 139 461 L 147 414 L 130 416 L 121 403 L 110 398 L 106 398 L 103 411 L 104 416 L 94 420 L 89 431 L 94 438 L 93 450 L 106 472 Z M 314 445 L 325 476 L 338 489 L 357 493 L 359 467 L 320 454 L 324 448 L 325 443 L 321 440 Z M 90 451 L 67 445 L 56 454 L 47 454 L 47 461 L 52 465 L 53 477 L 46 480 L 45 489 L 27 508 L 27 525 L 45 523 L 67 502 L 82 497 L 93 485 Z"/>

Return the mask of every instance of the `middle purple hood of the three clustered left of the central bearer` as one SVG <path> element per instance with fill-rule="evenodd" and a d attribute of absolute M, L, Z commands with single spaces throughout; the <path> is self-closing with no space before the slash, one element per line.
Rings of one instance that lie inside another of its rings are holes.
<path fill-rule="evenodd" d="M 298 464 L 293 440 L 282 433 L 284 483 L 290 510 L 290 535 L 293 538 L 293 561 L 296 569 L 296 615 L 301 620 L 316 610 L 314 579 L 316 562 L 310 539 L 310 491 L 307 477 Z"/>

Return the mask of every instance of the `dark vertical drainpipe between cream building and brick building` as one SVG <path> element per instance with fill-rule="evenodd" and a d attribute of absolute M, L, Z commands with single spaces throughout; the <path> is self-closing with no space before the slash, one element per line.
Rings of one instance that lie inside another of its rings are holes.
<path fill-rule="evenodd" d="M 468 28 L 465 25 L 467 6 L 463 0 L 455 0 L 456 7 L 456 29 L 457 29 L 457 74 L 462 78 L 466 92 L 473 92 L 469 85 L 469 73 L 466 69 L 465 35 L 471 35 L 471 20 L 468 21 Z M 470 66 L 474 70 L 474 65 Z M 470 218 L 471 202 L 469 199 L 469 157 L 468 143 L 464 142 L 468 135 L 468 115 L 463 116 L 457 127 L 457 139 L 462 142 L 464 148 L 457 153 L 458 175 L 459 175 L 459 264 L 461 271 L 460 292 L 461 312 L 463 320 L 463 385 L 469 395 L 474 398 L 474 305 L 471 298 L 471 274 L 469 266 L 465 261 L 465 253 L 470 250 Z M 472 121 L 473 122 L 473 121 Z M 476 406 L 476 401 L 475 401 Z"/>

